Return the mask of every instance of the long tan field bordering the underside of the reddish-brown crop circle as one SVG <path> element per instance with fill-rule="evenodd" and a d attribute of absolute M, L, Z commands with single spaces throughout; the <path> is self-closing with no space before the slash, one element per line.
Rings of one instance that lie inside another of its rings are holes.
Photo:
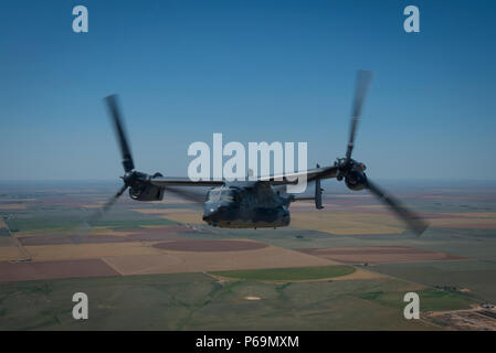
<path fill-rule="evenodd" d="M 158 249 L 152 247 L 156 243 L 35 245 L 24 246 L 24 248 L 31 255 L 33 261 L 102 258 L 123 275 L 337 264 L 329 259 L 274 246 L 255 250 L 194 253 Z M 0 248 L 1 260 L 19 259 L 21 257 L 22 254 L 15 247 Z"/>

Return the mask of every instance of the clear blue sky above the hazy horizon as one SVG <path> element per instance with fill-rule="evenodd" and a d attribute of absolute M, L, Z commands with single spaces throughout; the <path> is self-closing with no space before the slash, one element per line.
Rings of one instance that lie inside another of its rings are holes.
<path fill-rule="evenodd" d="M 72 31 L 84 4 L 89 32 Z M 420 9 L 420 33 L 403 9 Z M 4 1 L 0 180 L 123 174 L 102 98 L 120 95 L 137 169 L 186 175 L 188 146 L 347 143 L 376 179 L 496 179 L 494 1 Z"/>

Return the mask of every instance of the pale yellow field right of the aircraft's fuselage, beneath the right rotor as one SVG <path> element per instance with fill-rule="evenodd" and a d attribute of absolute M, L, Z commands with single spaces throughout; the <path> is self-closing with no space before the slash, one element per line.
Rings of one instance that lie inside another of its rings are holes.
<path fill-rule="evenodd" d="M 295 212 L 292 213 L 291 225 L 338 235 L 398 234 L 404 231 L 393 216 L 353 212 Z"/>

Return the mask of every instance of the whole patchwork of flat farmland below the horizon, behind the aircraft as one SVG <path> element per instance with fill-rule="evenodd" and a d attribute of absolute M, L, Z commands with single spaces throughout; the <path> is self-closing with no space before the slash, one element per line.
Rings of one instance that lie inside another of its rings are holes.
<path fill-rule="evenodd" d="M 294 203 L 277 229 L 210 227 L 167 193 L 122 197 L 88 226 L 114 189 L 0 185 L 0 330 L 495 327 L 496 189 L 393 188 L 431 224 L 421 237 L 342 189 L 321 211 Z M 89 298 L 86 321 L 72 318 L 75 292 Z M 408 292 L 420 320 L 403 317 Z"/>

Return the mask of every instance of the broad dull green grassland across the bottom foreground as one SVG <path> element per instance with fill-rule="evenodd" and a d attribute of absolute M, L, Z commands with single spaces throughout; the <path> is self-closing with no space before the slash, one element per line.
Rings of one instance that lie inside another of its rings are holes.
<path fill-rule="evenodd" d="M 395 279 L 219 282 L 202 274 L 4 282 L 0 330 L 439 329 L 404 320 L 401 298 L 415 288 Z M 88 320 L 72 318 L 77 291 L 88 296 Z M 378 300 L 379 291 L 395 295 Z M 444 301 L 433 298 L 431 304 Z"/>

